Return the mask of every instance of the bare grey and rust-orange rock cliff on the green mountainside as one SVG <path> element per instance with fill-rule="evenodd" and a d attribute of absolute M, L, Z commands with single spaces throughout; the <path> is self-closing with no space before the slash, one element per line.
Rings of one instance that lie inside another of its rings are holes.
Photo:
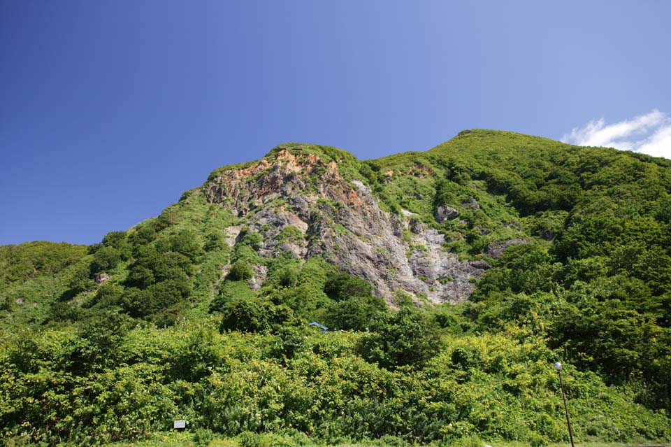
<path fill-rule="evenodd" d="M 261 256 L 282 251 L 300 260 L 321 256 L 373 284 L 389 304 L 398 292 L 418 303 L 422 297 L 435 303 L 463 301 L 475 288 L 471 278 L 489 267 L 459 261 L 443 250 L 443 234 L 417 219 L 382 211 L 368 186 L 347 182 L 335 162 L 314 154 L 280 150 L 253 166 L 224 171 L 203 186 L 203 193 L 263 236 Z M 300 236 L 282 237 L 289 226 Z M 229 227 L 231 243 L 240 228 Z M 255 269 L 257 286 L 264 279 L 257 277 L 264 275 L 261 270 Z"/>

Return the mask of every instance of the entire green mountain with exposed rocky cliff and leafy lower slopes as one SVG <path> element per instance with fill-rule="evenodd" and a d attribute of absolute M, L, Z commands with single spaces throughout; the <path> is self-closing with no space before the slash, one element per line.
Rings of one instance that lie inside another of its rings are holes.
<path fill-rule="evenodd" d="M 280 145 L 93 246 L 0 247 L 0 430 L 540 446 L 561 359 L 579 439 L 668 440 L 670 227 L 667 159 Z"/>

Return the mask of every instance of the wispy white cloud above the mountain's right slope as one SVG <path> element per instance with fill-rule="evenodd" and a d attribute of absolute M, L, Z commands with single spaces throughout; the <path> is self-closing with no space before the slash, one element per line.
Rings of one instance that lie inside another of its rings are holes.
<path fill-rule="evenodd" d="M 561 141 L 576 146 L 604 146 L 671 159 L 671 117 L 653 110 L 630 120 L 606 125 L 603 118 L 575 127 Z"/>

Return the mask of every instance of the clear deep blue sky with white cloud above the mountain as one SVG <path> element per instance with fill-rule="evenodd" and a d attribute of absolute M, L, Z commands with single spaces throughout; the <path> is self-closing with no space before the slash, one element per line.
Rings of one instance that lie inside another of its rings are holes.
<path fill-rule="evenodd" d="M 278 143 L 671 157 L 668 1 L 0 0 L 0 244 L 94 243 Z M 667 148 L 667 149 L 665 149 Z"/>

